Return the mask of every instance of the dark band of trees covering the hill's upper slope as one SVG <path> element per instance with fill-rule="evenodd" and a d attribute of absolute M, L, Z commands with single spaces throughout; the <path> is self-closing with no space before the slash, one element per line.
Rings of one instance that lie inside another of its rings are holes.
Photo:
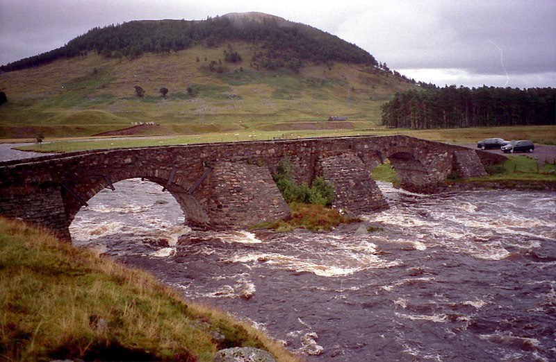
<path fill-rule="evenodd" d="M 358 46 L 311 26 L 274 18 L 252 19 L 239 24 L 229 17 L 215 17 L 205 21 L 129 21 L 97 27 L 65 46 L 11 62 L 1 66 L 0 70 L 35 67 L 59 58 L 88 55 L 92 51 L 106 57 L 136 58 L 149 52 L 180 51 L 195 44 L 218 46 L 230 40 L 263 44 L 265 56 L 284 60 L 284 64 L 300 59 L 377 65 L 373 55 Z"/>

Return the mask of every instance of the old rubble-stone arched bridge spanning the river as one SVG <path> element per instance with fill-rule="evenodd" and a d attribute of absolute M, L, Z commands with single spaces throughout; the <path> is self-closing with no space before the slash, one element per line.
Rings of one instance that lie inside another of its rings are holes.
<path fill-rule="evenodd" d="M 65 153 L 0 163 L 0 215 L 70 241 L 70 223 L 92 196 L 120 180 L 144 178 L 172 193 L 188 225 L 245 227 L 289 216 L 272 180 L 283 157 L 298 182 L 322 176 L 334 187 L 334 206 L 361 214 L 388 207 L 370 174 L 386 158 L 402 188 L 432 193 L 448 175 L 484 175 L 484 164 L 503 156 L 400 135 Z"/>

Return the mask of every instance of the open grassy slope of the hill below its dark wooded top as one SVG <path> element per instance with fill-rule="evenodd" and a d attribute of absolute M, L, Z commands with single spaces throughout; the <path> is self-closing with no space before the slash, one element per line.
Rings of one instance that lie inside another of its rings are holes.
<path fill-rule="evenodd" d="M 230 49 L 243 60 L 226 62 Z M 332 115 L 347 117 L 333 128 L 370 128 L 379 125 L 384 101 L 414 87 L 364 64 L 267 70 L 253 60 L 260 51 L 250 42 L 230 42 L 136 59 L 90 52 L 0 74 L 8 97 L 0 106 L 0 138 L 90 136 L 134 122 L 155 122 L 144 132 L 151 135 L 320 129 L 331 127 Z M 136 86 L 145 96 L 136 96 Z"/>

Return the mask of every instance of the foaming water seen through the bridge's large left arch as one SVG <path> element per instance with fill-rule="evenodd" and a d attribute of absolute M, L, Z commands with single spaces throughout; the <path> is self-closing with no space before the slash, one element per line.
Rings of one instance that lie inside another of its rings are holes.
<path fill-rule="evenodd" d="M 179 196 L 163 192 L 158 182 L 131 178 L 113 186 L 115 191 L 101 189 L 74 215 L 70 224 L 74 244 L 117 254 L 132 243 L 151 252 L 175 245 L 181 234 L 190 231 Z"/>

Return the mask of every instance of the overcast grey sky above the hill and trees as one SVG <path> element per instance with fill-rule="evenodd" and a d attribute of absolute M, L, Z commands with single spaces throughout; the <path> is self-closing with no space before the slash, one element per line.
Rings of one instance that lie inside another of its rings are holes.
<path fill-rule="evenodd" d="M 0 64 L 95 26 L 249 11 L 327 31 L 440 87 L 556 87 L 556 0 L 0 0 Z"/>

